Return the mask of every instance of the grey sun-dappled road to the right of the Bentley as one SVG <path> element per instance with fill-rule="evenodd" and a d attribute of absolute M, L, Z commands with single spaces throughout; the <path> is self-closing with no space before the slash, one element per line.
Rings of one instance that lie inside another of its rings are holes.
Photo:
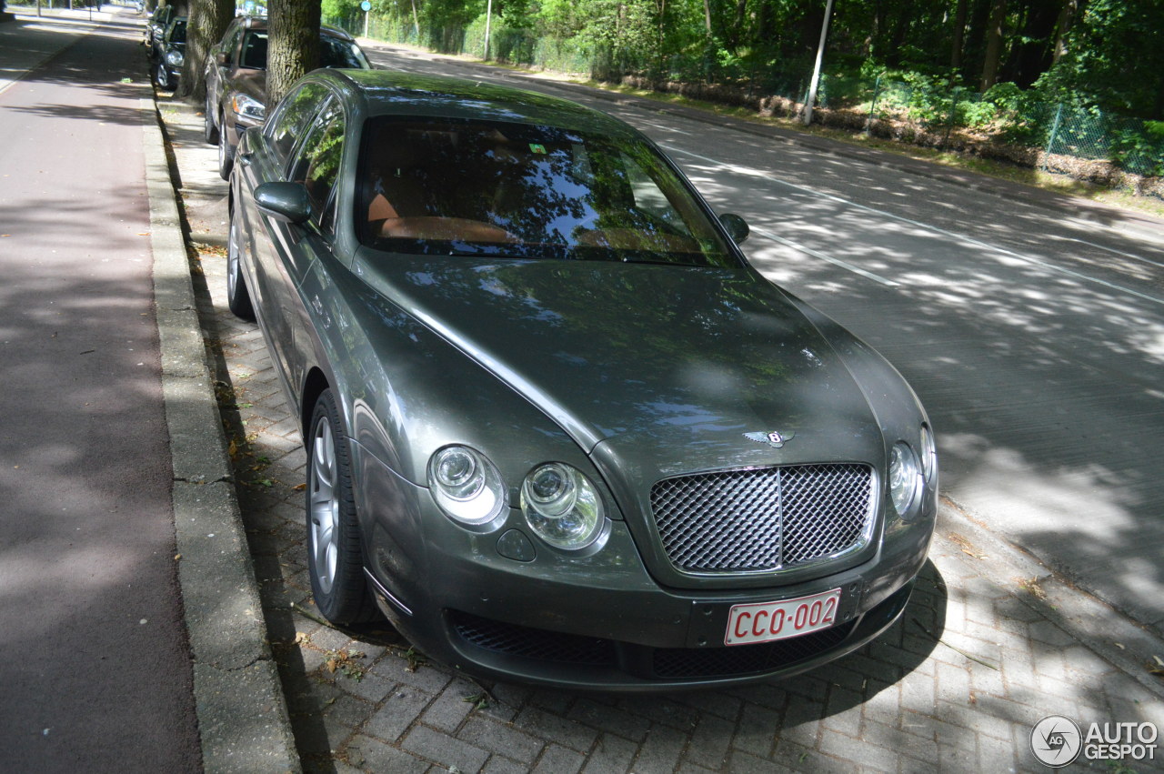
<path fill-rule="evenodd" d="M 448 58 L 371 57 L 547 91 L 641 128 L 717 211 L 748 220 L 758 268 L 904 374 L 950 499 L 1164 630 L 1164 222 L 1103 208 L 1084 220 L 1066 198 L 1035 206 L 1020 186 L 1000 197 Z"/>

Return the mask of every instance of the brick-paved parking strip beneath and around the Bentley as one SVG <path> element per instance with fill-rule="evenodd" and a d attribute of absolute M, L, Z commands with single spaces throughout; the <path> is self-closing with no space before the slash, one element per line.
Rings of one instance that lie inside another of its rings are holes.
<path fill-rule="evenodd" d="M 189 114 L 166 121 L 183 139 L 200 127 Z M 204 150 L 213 169 L 213 148 L 177 145 L 179 168 Z M 184 186 L 187 205 L 206 199 L 194 239 L 225 223 L 213 186 Z M 1030 731 L 1046 715 L 1164 726 L 1164 683 L 1145 666 L 1164 645 L 1012 561 L 950 509 L 902 620 L 783 682 L 652 697 L 478 684 L 391 632 L 324 625 L 306 571 L 296 420 L 257 327 L 226 308 L 222 250 L 204 250 L 200 267 L 240 507 L 308 772 L 1039 772 Z M 1162 766 L 1127 764 L 1092 767 Z"/>

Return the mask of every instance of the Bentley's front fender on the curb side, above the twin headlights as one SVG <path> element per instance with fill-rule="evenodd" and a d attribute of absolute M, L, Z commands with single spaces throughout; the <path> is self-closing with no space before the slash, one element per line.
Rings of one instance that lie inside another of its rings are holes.
<path fill-rule="evenodd" d="M 317 261 L 299 294 L 314 365 L 340 398 L 348 436 L 405 481 L 427 487 L 428 459 L 449 443 L 492 460 L 511 503 L 542 462 L 567 462 L 597 477 L 545 413 L 335 258 Z"/>

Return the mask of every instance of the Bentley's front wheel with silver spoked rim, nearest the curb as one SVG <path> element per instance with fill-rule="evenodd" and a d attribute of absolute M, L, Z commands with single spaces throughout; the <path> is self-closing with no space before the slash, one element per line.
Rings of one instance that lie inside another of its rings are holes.
<path fill-rule="evenodd" d="M 368 592 L 360 521 L 352 492 L 352 457 L 331 389 L 315 402 L 307 434 L 307 574 L 315 606 L 333 624 L 377 617 Z"/>

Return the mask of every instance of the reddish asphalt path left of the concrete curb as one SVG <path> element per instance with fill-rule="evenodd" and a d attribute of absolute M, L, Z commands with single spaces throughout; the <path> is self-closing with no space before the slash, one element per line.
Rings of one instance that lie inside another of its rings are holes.
<path fill-rule="evenodd" d="M 0 769 L 200 771 L 141 31 L 26 23 L 0 26 Z"/>

